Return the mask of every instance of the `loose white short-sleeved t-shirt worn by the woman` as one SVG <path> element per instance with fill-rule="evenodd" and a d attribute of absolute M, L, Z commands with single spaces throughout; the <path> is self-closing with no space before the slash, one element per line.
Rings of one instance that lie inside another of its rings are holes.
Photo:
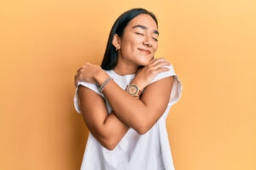
<path fill-rule="evenodd" d="M 174 76 L 169 103 L 160 119 L 143 135 L 130 128 L 113 150 L 103 147 L 89 132 L 81 170 L 174 170 L 171 148 L 166 131 L 166 116 L 171 106 L 180 98 L 182 85 L 174 72 L 173 66 L 165 65 L 164 67 L 170 68 L 170 71 L 159 73 L 150 82 L 152 83 L 164 77 Z M 135 74 L 120 76 L 113 70 L 106 72 L 124 90 L 136 76 Z M 78 83 L 74 96 L 74 107 L 76 111 L 81 113 L 78 101 L 79 85 L 90 88 L 97 94 L 100 93 L 95 83 Z M 108 114 L 110 114 L 112 109 L 108 104 L 108 100 L 104 97 L 104 94 L 100 95 L 105 99 Z"/>

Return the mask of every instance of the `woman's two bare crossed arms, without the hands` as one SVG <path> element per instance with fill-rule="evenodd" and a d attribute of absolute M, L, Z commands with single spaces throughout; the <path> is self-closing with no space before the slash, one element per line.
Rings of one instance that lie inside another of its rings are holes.
<path fill-rule="evenodd" d="M 96 78 L 96 82 L 102 84 L 107 78 L 108 74 L 102 73 Z M 143 134 L 154 126 L 166 110 L 172 82 L 173 77 L 166 77 L 149 84 L 141 99 L 126 93 L 113 80 L 108 82 L 103 94 L 113 110 L 110 115 L 102 96 L 89 88 L 79 86 L 79 101 L 84 122 L 90 133 L 105 148 L 113 150 L 130 127 Z M 96 107 L 92 107 L 95 104 Z"/>

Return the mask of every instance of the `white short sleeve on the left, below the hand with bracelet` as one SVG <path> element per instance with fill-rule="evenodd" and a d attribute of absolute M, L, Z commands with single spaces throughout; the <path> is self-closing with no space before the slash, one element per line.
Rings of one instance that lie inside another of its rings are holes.
<path fill-rule="evenodd" d="M 75 108 L 75 110 L 76 110 L 79 114 L 81 114 L 82 111 L 81 111 L 80 108 L 79 108 L 79 95 L 78 95 L 79 85 L 82 85 L 82 86 L 84 86 L 84 87 L 86 87 L 86 88 L 90 88 L 92 91 L 96 92 L 96 94 L 99 94 L 99 95 L 101 95 L 101 96 L 102 96 L 102 94 L 99 92 L 96 83 L 78 82 L 78 85 L 77 85 L 77 88 L 76 88 L 76 91 L 75 91 L 75 95 L 74 95 L 74 98 L 73 98 L 73 103 L 74 103 L 74 108 Z"/>

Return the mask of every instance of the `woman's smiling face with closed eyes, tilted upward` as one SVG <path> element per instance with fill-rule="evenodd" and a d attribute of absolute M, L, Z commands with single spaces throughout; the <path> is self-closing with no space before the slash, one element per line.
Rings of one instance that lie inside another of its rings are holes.
<path fill-rule="evenodd" d="M 158 48 L 159 33 L 149 14 L 139 14 L 125 27 L 120 38 L 119 57 L 135 65 L 147 65 Z"/>

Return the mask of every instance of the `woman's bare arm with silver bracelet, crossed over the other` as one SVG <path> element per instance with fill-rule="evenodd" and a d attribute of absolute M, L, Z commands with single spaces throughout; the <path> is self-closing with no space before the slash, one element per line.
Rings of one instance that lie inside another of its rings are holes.
<path fill-rule="evenodd" d="M 108 78 L 105 71 L 96 77 L 96 82 L 102 84 Z M 166 77 L 149 84 L 143 91 L 141 99 L 126 93 L 119 85 L 108 82 L 103 94 L 108 99 L 114 113 L 127 126 L 137 133 L 147 133 L 166 110 L 172 90 L 173 77 Z M 137 83 L 136 81 L 131 83 Z"/>

